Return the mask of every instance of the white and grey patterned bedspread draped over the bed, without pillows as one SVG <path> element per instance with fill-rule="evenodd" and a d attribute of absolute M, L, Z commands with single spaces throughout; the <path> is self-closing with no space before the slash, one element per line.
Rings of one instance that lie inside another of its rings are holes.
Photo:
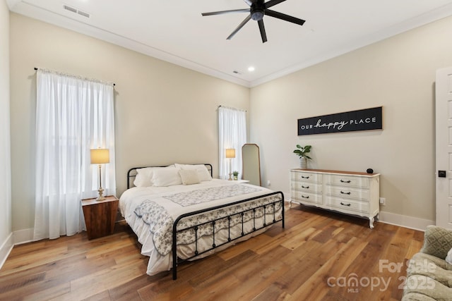
<path fill-rule="evenodd" d="M 149 256 L 148 271 L 147 274 L 154 275 L 160 271 L 168 271 L 172 268 L 172 253 L 170 252 L 172 241 L 172 223 L 178 216 L 187 212 L 198 211 L 210 207 L 215 207 L 222 204 L 229 204 L 241 199 L 249 199 L 251 197 L 258 197 L 260 195 L 266 195 L 272 192 L 266 188 L 262 188 L 255 185 L 239 184 L 237 181 L 229 180 L 217 180 L 201 182 L 194 185 L 173 185 L 169 187 L 146 187 L 146 188 L 131 188 L 126 190 L 119 199 L 119 208 L 122 216 L 129 223 L 129 226 L 138 236 L 138 241 L 142 245 L 141 254 Z M 221 198 L 220 195 L 222 196 Z M 279 197 L 276 195 L 275 197 Z M 275 197 L 270 197 L 274 199 Z M 256 202 L 268 202 L 256 201 Z M 280 219 L 281 210 L 277 207 L 276 219 Z M 217 215 L 230 214 L 230 210 L 222 209 L 218 211 Z M 158 216 L 168 216 L 167 219 L 158 219 Z M 252 213 L 249 213 L 252 214 Z M 261 211 L 263 216 L 263 211 Z M 199 216 L 200 218 L 207 219 L 206 216 Z M 251 219 L 251 217 L 249 217 Z M 266 211 L 266 221 L 273 221 L 273 211 Z M 190 226 L 193 222 L 193 218 L 182 220 L 182 225 Z M 263 221 L 258 221 L 258 224 L 253 224 L 251 221 L 245 224 L 244 233 L 249 233 L 252 228 L 261 228 Z M 210 227 L 210 228 L 208 228 Z M 198 240 L 197 247 L 199 250 L 207 250 L 212 245 L 213 239 L 211 238 L 212 227 L 208 226 L 205 229 L 200 229 L 203 238 Z M 220 230 L 220 226 L 215 228 L 215 243 L 225 242 L 229 235 L 232 238 L 239 237 L 242 233 L 242 225 L 237 221 L 237 225 L 232 228 L 231 233 L 227 230 Z M 178 229 L 180 227 L 178 226 Z M 168 232 L 169 231 L 169 232 Z M 209 232 L 210 231 L 210 232 Z M 265 231 L 265 229 L 263 229 Z M 258 231 L 247 235 L 245 238 L 230 242 L 229 245 L 234 244 L 240 240 L 246 240 L 253 235 L 257 235 L 263 231 Z M 193 231 L 194 232 L 194 231 Z M 155 233 L 155 234 L 154 234 Z M 192 242 L 193 235 L 187 235 L 187 233 L 180 233 L 178 235 L 178 256 L 181 258 L 191 257 L 194 254 L 194 244 Z M 179 241 L 183 242 L 179 245 Z M 205 254 L 196 257 L 205 257 L 208 254 L 213 254 L 218 250 L 222 250 L 228 245 L 222 248 L 218 248 Z"/>

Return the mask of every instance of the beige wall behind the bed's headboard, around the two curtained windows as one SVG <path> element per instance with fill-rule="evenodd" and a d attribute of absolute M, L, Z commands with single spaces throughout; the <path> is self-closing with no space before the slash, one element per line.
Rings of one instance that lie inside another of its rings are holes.
<path fill-rule="evenodd" d="M 116 84 L 118 196 L 133 166 L 211 163 L 218 174 L 217 108 L 249 111 L 246 87 L 11 13 L 13 231 L 34 224 L 34 67 Z"/>

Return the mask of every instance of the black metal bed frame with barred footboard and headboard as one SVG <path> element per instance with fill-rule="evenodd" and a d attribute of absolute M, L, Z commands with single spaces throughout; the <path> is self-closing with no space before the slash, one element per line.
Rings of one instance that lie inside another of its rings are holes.
<path fill-rule="evenodd" d="M 210 171 L 210 176 L 213 176 L 212 165 L 210 165 L 210 164 L 204 164 L 204 165 Z M 166 166 L 145 166 L 145 167 L 166 167 Z M 130 181 L 131 181 L 132 178 L 135 178 L 135 176 L 136 176 L 136 169 L 145 168 L 145 167 L 134 167 L 134 168 L 130 168 L 129 169 L 129 171 L 127 172 L 127 189 L 131 188 Z M 273 195 L 280 195 L 280 199 L 273 200 L 272 202 L 268 202 L 266 204 L 256 204 L 256 206 L 253 206 L 253 207 L 251 207 L 249 209 L 244 209 L 242 211 L 234 212 L 234 214 L 225 215 L 225 216 L 222 216 L 222 217 L 220 217 L 218 219 L 213 219 L 212 221 L 206 221 L 206 222 L 203 222 L 203 223 L 198 223 L 198 224 L 196 224 L 194 226 L 189 226 L 187 228 L 182 228 L 182 229 L 177 230 L 177 225 L 178 225 L 179 221 L 181 221 L 182 219 L 184 219 L 186 217 L 195 216 L 195 215 L 198 215 L 198 214 L 203 214 L 203 213 L 206 213 L 208 211 L 214 211 L 214 210 L 218 210 L 218 209 L 222 209 L 222 208 L 232 207 L 234 205 L 242 204 L 242 203 L 245 203 L 245 202 L 251 202 L 251 201 L 256 200 L 256 199 L 263 199 L 263 198 L 266 198 L 266 197 L 271 197 Z M 276 204 L 278 204 L 278 203 L 281 204 L 281 207 L 280 207 L 280 209 L 281 209 L 281 217 L 280 217 L 280 219 L 276 219 Z M 266 221 L 266 215 L 267 215 L 266 212 L 267 212 L 268 207 L 270 207 L 270 209 L 273 207 L 273 220 L 267 222 Z M 260 228 L 256 228 L 256 210 L 260 209 L 260 208 L 263 208 L 263 217 L 262 217 L 263 218 L 263 226 L 261 226 Z M 246 214 L 246 212 L 249 212 L 249 211 L 253 212 L 253 214 L 252 214 L 252 216 L 253 216 L 252 217 L 253 228 L 252 228 L 252 231 L 249 231 L 248 233 L 244 233 L 244 224 L 246 223 L 246 221 L 244 221 L 244 215 Z M 214 250 L 214 249 L 216 249 L 218 247 L 222 247 L 223 245 L 226 245 L 227 243 L 230 243 L 230 242 L 232 242 L 234 240 L 238 240 L 239 238 L 243 238 L 246 235 L 249 235 L 249 234 L 254 233 L 256 231 L 259 231 L 259 230 L 261 230 L 263 228 L 271 226 L 274 223 L 278 223 L 279 221 L 282 222 L 282 226 L 284 228 L 285 227 L 285 223 L 284 223 L 285 212 L 284 211 L 285 210 L 284 210 L 284 195 L 283 195 L 283 192 L 277 191 L 277 192 L 268 193 L 266 195 L 259 195 L 257 197 L 250 197 L 248 199 L 242 199 L 242 200 L 239 200 L 237 202 L 232 202 L 232 203 L 229 203 L 229 204 L 223 204 L 223 205 L 210 207 L 210 208 L 206 208 L 206 209 L 202 209 L 202 210 L 198 210 L 198 211 L 188 212 L 186 214 L 182 214 L 181 216 L 177 217 L 177 219 L 174 221 L 173 226 L 172 226 L 172 278 L 173 278 L 173 280 L 177 279 L 177 264 L 180 264 L 182 262 L 186 262 L 186 261 L 188 261 L 190 259 L 193 259 L 194 257 L 198 257 L 201 254 L 204 254 L 206 252 Z M 242 222 L 241 222 L 242 223 L 242 233 L 239 236 L 237 236 L 236 238 L 231 238 L 231 235 L 230 235 L 230 231 L 231 231 L 230 221 L 232 219 L 232 216 L 242 216 Z M 225 220 L 225 219 L 227 219 L 227 221 L 228 221 L 228 227 L 227 227 L 228 238 L 227 238 L 227 241 L 220 242 L 220 244 L 217 245 L 215 243 L 215 223 L 217 223 L 217 221 Z M 208 248 L 206 250 L 203 250 L 202 252 L 198 252 L 198 228 L 200 226 L 204 226 L 206 224 L 211 224 L 212 227 L 213 227 L 212 247 L 210 247 L 210 248 Z M 194 242 L 195 243 L 195 252 L 194 252 L 193 256 L 185 258 L 185 259 L 181 259 L 181 258 L 177 257 L 177 233 L 182 232 L 182 231 L 188 231 L 189 229 L 193 229 L 194 232 L 195 232 L 195 242 Z"/>

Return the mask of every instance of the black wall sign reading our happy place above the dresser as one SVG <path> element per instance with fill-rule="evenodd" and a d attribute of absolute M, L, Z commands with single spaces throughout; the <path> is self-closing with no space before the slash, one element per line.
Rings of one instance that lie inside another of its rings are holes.
<path fill-rule="evenodd" d="M 298 119 L 298 135 L 382 130 L 383 106 Z"/>

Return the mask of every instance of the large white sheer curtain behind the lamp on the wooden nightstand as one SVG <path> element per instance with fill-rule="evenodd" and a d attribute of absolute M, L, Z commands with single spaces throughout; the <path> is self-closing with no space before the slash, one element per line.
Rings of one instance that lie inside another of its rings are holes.
<path fill-rule="evenodd" d="M 37 70 L 34 240 L 85 228 L 81 199 L 97 196 L 98 168 L 90 164 L 97 147 L 109 149 L 102 188 L 114 195 L 113 85 Z"/>

